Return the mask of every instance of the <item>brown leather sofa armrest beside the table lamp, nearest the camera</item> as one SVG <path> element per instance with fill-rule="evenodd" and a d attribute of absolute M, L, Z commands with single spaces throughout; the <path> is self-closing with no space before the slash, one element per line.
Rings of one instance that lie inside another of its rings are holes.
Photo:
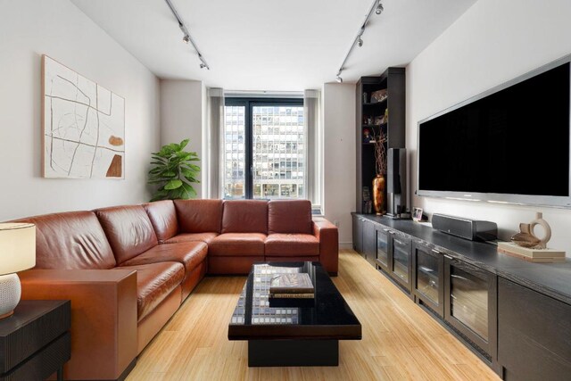
<path fill-rule="evenodd" d="M 65 379 L 117 379 L 137 357 L 137 271 L 30 269 L 21 299 L 71 301 Z"/>

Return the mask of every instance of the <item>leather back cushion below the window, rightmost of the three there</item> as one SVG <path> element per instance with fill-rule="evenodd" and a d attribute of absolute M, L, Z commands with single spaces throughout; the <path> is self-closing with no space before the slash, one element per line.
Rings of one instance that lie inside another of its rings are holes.
<path fill-rule="evenodd" d="M 312 230 L 309 200 L 272 200 L 268 203 L 269 234 L 311 234 Z"/>

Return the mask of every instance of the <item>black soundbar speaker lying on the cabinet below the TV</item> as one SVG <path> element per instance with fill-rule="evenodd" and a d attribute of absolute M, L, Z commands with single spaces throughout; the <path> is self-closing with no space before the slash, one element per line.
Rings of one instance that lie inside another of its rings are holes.
<path fill-rule="evenodd" d="M 434 213 L 432 227 L 443 233 L 469 239 L 471 241 L 492 241 L 498 237 L 498 225 L 495 222 Z"/>

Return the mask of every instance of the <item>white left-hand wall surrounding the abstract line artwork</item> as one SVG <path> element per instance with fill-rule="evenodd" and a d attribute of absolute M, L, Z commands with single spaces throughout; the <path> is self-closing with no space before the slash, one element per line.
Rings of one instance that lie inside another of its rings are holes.
<path fill-rule="evenodd" d="M 41 178 L 41 55 L 125 98 L 125 180 Z M 149 199 L 159 81 L 63 0 L 0 0 L 0 220 Z"/>

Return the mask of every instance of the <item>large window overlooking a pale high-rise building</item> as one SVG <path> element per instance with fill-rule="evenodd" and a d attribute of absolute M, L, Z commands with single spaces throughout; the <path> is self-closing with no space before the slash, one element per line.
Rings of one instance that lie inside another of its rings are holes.
<path fill-rule="evenodd" d="M 301 99 L 227 98 L 225 198 L 306 198 Z"/>

